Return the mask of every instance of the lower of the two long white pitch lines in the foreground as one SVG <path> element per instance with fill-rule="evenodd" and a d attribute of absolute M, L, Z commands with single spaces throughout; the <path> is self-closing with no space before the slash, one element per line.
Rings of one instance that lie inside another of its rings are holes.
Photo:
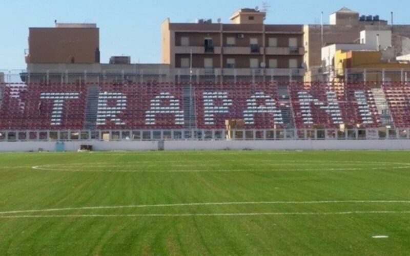
<path fill-rule="evenodd" d="M 124 214 L 124 215 L 16 215 L 0 216 L 0 219 L 19 218 L 118 218 L 118 217 L 212 217 L 212 216 L 298 216 L 298 215 L 365 215 L 365 214 L 410 214 L 410 211 L 340 211 L 340 212 L 238 212 L 230 214 Z"/>

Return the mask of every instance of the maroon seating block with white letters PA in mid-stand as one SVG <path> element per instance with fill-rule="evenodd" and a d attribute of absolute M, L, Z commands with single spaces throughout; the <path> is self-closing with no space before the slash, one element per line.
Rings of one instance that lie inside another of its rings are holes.
<path fill-rule="evenodd" d="M 227 119 L 243 119 L 244 128 L 269 129 L 283 124 L 273 83 L 227 83 L 195 86 L 196 121 L 201 129 L 221 129 Z"/>

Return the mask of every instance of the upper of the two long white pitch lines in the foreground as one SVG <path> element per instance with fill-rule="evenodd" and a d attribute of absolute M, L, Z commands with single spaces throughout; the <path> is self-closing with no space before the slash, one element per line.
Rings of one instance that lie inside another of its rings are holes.
<path fill-rule="evenodd" d="M 180 203 L 180 204 L 140 204 L 140 205 L 119 205 L 119 206 L 89 206 L 72 208 L 51 208 L 36 210 L 15 210 L 0 211 L 0 215 L 5 214 L 25 214 L 30 212 L 50 212 L 68 210 L 94 210 L 94 209 L 124 209 L 124 208 L 153 208 L 153 207 L 183 207 L 183 206 L 209 206 L 209 205 L 255 205 L 255 204 L 410 204 L 406 200 L 345 200 L 345 201 L 261 201 L 261 202 L 211 202 L 211 203 Z"/>

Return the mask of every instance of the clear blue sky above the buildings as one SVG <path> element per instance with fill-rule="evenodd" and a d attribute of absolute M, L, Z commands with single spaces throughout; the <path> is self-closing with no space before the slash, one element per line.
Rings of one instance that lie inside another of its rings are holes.
<path fill-rule="evenodd" d="M 379 14 L 395 24 L 410 24 L 404 0 L 294 0 L 269 1 L 267 24 L 316 24 L 320 12 L 324 22 L 329 14 L 346 6 L 361 14 Z M 388 3 L 388 4 L 387 4 Z M 52 27 L 61 23 L 97 23 L 100 28 L 101 62 L 112 55 L 130 55 L 132 62 L 160 61 L 160 24 L 194 22 L 196 18 L 221 18 L 228 23 L 239 8 L 261 6 L 259 0 L 0 0 L 0 70 L 24 69 L 24 49 L 29 27 Z M 215 8 L 217 7 L 217 8 Z"/>

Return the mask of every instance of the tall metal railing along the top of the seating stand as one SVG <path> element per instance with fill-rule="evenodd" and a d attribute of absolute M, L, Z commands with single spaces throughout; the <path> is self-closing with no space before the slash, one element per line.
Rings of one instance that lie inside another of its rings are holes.
<path fill-rule="evenodd" d="M 0 83 L 73 82 L 389 82 L 410 81 L 410 69 L 127 69 L 0 70 Z"/>

